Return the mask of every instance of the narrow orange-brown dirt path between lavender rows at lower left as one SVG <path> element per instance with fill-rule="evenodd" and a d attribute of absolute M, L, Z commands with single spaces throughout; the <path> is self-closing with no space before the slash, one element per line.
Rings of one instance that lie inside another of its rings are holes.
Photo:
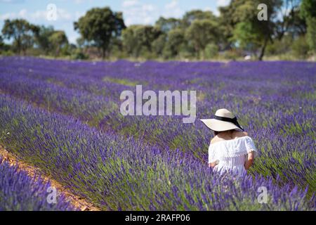
<path fill-rule="evenodd" d="M 58 183 L 58 181 L 55 181 L 48 176 L 44 176 L 41 173 L 41 169 L 17 160 L 15 155 L 9 153 L 8 150 L 4 149 L 2 146 L 0 146 L 0 156 L 1 158 L 4 158 L 4 160 L 9 162 L 11 166 L 17 166 L 18 169 L 27 172 L 27 174 L 29 174 L 29 176 L 31 177 L 34 177 L 37 174 L 41 174 L 41 178 L 44 179 L 44 182 L 50 181 L 51 185 L 56 188 L 58 193 L 62 193 L 63 195 L 65 195 L 65 197 L 70 200 L 70 203 L 81 211 L 100 211 L 100 209 L 94 206 L 92 203 L 88 203 L 88 201 L 86 201 L 84 198 L 74 195 L 69 189 L 64 188 L 61 184 Z"/>

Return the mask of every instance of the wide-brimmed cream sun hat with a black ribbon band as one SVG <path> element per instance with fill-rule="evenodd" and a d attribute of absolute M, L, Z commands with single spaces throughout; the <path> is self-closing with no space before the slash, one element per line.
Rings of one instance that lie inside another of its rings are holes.
<path fill-rule="evenodd" d="M 230 129 L 244 131 L 244 128 L 237 122 L 237 117 L 225 108 L 217 110 L 213 119 L 202 119 L 201 121 L 213 131 L 228 131 Z"/>

